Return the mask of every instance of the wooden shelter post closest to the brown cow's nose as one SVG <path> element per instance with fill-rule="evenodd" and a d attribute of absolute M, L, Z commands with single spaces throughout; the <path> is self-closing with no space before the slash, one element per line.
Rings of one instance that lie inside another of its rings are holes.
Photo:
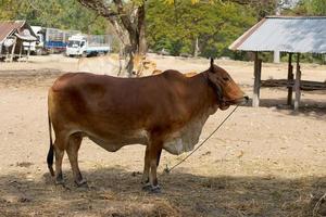
<path fill-rule="evenodd" d="M 259 59 L 258 52 L 254 52 L 254 84 L 252 106 L 260 106 L 260 88 L 261 88 L 261 74 L 262 74 L 262 60 Z"/>

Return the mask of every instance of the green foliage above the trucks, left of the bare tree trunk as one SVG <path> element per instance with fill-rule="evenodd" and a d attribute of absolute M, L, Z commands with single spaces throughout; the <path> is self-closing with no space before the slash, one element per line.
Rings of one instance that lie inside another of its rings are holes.
<path fill-rule="evenodd" d="M 26 20 L 30 25 L 105 34 L 108 21 L 76 0 L 0 0 L 0 20 Z"/>

